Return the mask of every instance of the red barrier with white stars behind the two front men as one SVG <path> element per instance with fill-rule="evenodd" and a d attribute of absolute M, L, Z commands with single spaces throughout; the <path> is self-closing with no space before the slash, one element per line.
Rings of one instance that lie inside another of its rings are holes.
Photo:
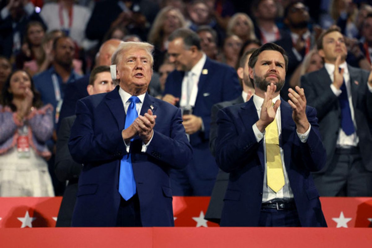
<path fill-rule="evenodd" d="M 61 197 L 0 197 L 0 228 L 53 227 L 61 200 Z M 372 227 L 372 198 L 323 197 L 320 200 L 329 227 Z M 218 226 L 204 220 L 208 204 L 209 197 L 173 197 L 175 226 Z"/>

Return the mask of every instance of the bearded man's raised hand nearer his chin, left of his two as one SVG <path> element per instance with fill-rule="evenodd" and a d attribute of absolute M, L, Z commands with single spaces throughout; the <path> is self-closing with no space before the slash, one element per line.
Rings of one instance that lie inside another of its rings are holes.
<path fill-rule="evenodd" d="M 273 94 L 275 93 L 275 91 L 275 84 L 271 83 L 267 86 L 265 99 L 263 100 L 261 106 L 260 119 L 256 122 L 257 128 L 258 130 L 260 130 L 261 133 L 263 133 L 265 128 L 275 119 L 276 111 L 280 106 L 279 99 L 276 100 L 275 104 L 273 105 Z"/>

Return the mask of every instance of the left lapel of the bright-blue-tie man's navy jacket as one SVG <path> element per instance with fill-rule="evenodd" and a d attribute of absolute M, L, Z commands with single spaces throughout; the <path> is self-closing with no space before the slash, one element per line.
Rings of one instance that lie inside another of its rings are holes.
<path fill-rule="evenodd" d="M 121 100 L 121 97 L 119 95 L 119 86 L 117 86 L 113 91 L 107 93 L 106 105 L 109 107 L 112 115 L 115 117 L 118 128 L 124 128 L 125 109 L 123 101 Z"/>

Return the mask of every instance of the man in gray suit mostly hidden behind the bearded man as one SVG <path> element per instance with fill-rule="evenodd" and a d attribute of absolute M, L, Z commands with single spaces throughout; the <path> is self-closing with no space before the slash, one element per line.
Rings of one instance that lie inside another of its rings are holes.
<path fill-rule="evenodd" d="M 212 106 L 211 131 L 209 132 L 209 149 L 211 150 L 213 156 L 215 156 L 215 140 L 217 138 L 217 112 L 222 108 L 246 102 L 254 95 L 254 87 L 249 79 L 248 66 L 249 58 L 254 50 L 256 50 L 256 48 L 247 50 L 241 56 L 239 61 L 237 74 L 240 78 L 240 85 L 243 88 L 241 95 L 232 101 L 219 102 Z M 219 170 L 212 190 L 211 200 L 209 201 L 209 206 L 207 212 L 205 213 L 206 220 L 219 224 L 228 181 L 229 173 Z"/>

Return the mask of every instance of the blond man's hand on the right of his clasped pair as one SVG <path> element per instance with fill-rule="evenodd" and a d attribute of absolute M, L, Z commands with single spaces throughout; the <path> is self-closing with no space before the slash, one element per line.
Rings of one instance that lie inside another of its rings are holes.
<path fill-rule="evenodd" d="M 140 138 L 145 144 L 147 144 L 151 140 L 151 137 L 153 137 L 155 119 L 156 115 L 153 115 L 153 111 L 149 109 L 147 113 L 145 113 L 143 116 L 138 116 L 138 118 L 134 121 L 134 127 L 138 131 Z"/>

